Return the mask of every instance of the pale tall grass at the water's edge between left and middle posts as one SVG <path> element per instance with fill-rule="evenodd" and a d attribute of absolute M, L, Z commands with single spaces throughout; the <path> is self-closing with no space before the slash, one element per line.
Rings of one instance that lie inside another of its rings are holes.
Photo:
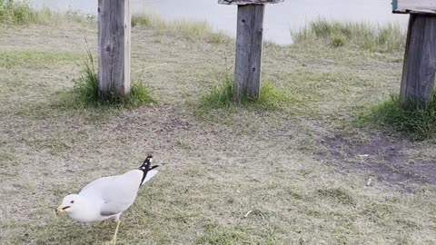
<path fill-rule="evenodd" d="M 178 34 L 189 41 L 205 40 L 209 43 L 221 44 L 230 39 L 223 32 L 213 32 L 212 26 L 205 21 L 166 21 L 161 15 L 147 12 L 133 15 L 132 26 L 153 29 L 156 34 Z"/>

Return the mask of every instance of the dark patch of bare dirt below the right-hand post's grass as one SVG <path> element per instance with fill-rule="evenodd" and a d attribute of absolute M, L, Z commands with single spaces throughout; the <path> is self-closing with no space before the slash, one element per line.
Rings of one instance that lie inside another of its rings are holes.
<path fill-rule="evenodd" d="M 408 158 L 402 150 L 407 142 L 373 135 L 368 142 L 350 142 L 340 136 L 323 138 L 324 149 L 317 160 L 339 162 L 343 171 L 362 171 L 389 186 L 410 190 L 411 184 L 436 184 L 436 161 Z"/>

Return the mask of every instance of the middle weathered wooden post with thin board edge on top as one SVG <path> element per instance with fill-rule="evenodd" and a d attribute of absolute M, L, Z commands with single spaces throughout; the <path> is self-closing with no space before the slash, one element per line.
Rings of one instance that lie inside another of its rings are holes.
<path fill-rule="evenodd" d="M 279 2 L 283 0 L 218 0 L 221 5 L 238 5 L 233 82 L 233 101 L 236 103 L 243 97 L 259 98 L 264 5 Z"/>

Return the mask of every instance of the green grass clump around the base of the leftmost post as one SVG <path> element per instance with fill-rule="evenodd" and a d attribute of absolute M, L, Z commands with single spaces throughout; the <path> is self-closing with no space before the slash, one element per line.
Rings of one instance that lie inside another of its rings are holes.
<path fill-rule="evenodd" d="M 150 89 L 142 81 L 136 81 L 131 84 L 130 94 L 127 97 L 121 97 L 114 92 L 100 94 L 94 57 L 89 51 L 80 76 L 74 80 L 73 90 L 67 93 L 62 100 L 62 105 L 67 108 L 83 108 L 87 106 L 133 108 L 144 103 L 155 103 L 155 100 Z"/>

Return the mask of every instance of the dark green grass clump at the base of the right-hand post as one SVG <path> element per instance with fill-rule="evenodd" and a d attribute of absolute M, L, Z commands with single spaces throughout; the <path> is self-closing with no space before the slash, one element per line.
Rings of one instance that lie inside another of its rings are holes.
<path fill-rule="evenodd" d="M 385 102 L 376 105 L 366 120 L 383 128 L 406 133 L 412 140 L 425 140 L 436 135 L 436 94 L 427 105 L 407 103 L 401 105 L 398 95 L 391 95 Z"/>

